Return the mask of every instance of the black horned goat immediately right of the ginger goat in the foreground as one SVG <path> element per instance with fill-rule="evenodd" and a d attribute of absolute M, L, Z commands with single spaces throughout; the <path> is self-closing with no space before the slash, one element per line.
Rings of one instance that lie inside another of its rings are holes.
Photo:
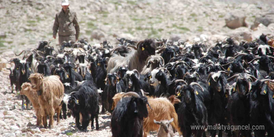
<path fill-rule="evenodd" d="M 194 85 L 199 86 L 197 89 Z M 183 97 L 178 109 L 178 123 L 184 137 L 192 137 L 192 133 L 196 137 L 205 137 L 205 129 L 193 130 L 191 126 L 201 125 L 207 126 L 207 110 L 203 103 L 203 88 L 198 83 L 190 83 L 189 85 L 182 85 Z"/>

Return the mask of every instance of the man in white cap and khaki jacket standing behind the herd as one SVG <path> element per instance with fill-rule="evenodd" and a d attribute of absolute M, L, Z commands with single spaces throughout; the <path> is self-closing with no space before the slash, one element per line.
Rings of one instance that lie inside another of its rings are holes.
<path fill-rule="evenodd" d="M 55 16 L 53 25 L 53 38 L 56 39 L 58 31 L 59 44 L 63 41 L 68 42 L 69 40 L 77 41 L 79 37 L 80 28 L 78 25 L 76 13 L 69 9 L 69 1 L 62 0 L 62 10 Z"/>

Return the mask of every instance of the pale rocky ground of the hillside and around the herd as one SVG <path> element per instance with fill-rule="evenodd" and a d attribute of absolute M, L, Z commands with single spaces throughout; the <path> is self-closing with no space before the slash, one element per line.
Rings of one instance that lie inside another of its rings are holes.
<path fill-rule="evenodd" d="M 109 40 L 112 45 L 116 45 L 116 37 L 133 40 L 182 39 L 192 42 L 206 40 L 213 44 L 228 36 L 250 41 L 264 33 L 271 38 L 274 32 L 271 0 L 69 2 L 71 9 L 78 15 L 79 38 L 87 39 L 91 45 L 103 40 Z M 36 48 L 39 41 L 52 38 L 54 17 L 59 10 L 60 2 L 55 0 L 0 0 L 0 53 L 3 68 L 8 60 L 15 57 L 14 53 L 26 48 Z M 246 27 L 227 27 L 225 19 L 234 18 L 245 19 Z M 56 46 L 57 42 L 58 40 L 52 40 L 51 45 Z M 99 131 L 91 130 L 90 126 L 88 133 L 78 131 L 72 117 L 61 120 L 61 124 L 52 129 L 35 128 L 34 111 L 21 111 L 19 95 L 10 93 L 8 75 L 7 69 L 0 72 L 0 136 L 111 136 L 109 113 L 99 115 Z M 151 133 L 150 136 L 154 135 Z"/>

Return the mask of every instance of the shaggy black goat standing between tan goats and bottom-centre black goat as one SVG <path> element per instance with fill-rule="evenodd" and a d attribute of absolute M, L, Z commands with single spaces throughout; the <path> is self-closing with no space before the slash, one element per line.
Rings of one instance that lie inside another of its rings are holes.
<path fill-rule="evenodd" d="M 99 94 L 92 81 L 86 81 L 82 85 L 73 89 L 70 93 L 68 109 L 75 117 L 76 125 L 79 130 L 87 132 L 87 126 L 91 120 L 92 129 L 94 129 L 94 117 L 96 120 L 96 130 L 99 130 Z M 82 126 L 80 126 L 80 113 L 82 114 Z"/>

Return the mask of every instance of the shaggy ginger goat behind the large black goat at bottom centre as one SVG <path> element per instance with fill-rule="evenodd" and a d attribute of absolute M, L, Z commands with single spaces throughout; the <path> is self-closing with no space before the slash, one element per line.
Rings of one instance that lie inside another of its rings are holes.
<path fill-rule="evenodd" d="M 115 106 L 117 106 L 117 103 L 120 101 L 123 94 L 125 93 L 123 92 L 117 93 L 112 98 L 113 104 L 111 109 L 114 109 Z M 173 118 L 174 121 L 171 123 L 172 127 L 176 129 L 177 131 L 180 131 L 178 127 L 178 116 L 173 106 L 174 102 L 170 102 L 166 97 L 160 97 L 160 98 L 148 97 L 148 102 L 153 110 L 150 109 L 149 106 L 147 105 L 149 116 L 144 119 L 144 125 L 143 125 L 144 136 L 143 137 L 146 137 L 149 131 L 156 131 L 156 130 L 158 131 L 160 125 L 155 124 L 154 120 L 161 121 L 161 120 Z"/>

